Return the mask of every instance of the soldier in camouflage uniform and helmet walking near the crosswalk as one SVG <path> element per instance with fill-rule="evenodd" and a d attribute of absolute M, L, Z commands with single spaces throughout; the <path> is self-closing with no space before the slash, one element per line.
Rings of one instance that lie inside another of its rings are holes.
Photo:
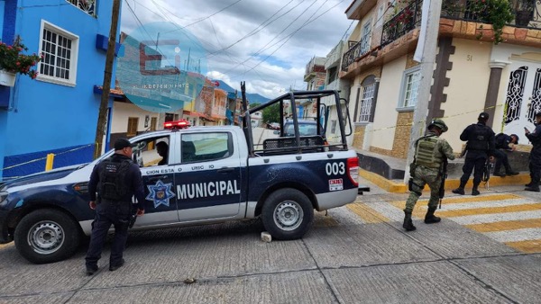
<path fill-rule="evenodd" d="M 411 220 L 411 212 L 426 183 L 430 187 L 430 200 L 428 200 L 425 223 L 432 224 L 441 220 L 434 216 L 434 212 L 437 208 L 442 183 L 442 164 L 445 158 L 454 159 L 453 148 L 449 146 L 445 139 L 439 137 L 445 131 L 447 131 L 447 126 L 444 121 L 433 120 L 428 125 L 426 135 L 416 141 L 415 158 L 410 165 L 412 177 L 410 180 L 410 192 L 404 209 L 405 217 L 402 225 L 407 231 L 416 229 Z"/>

